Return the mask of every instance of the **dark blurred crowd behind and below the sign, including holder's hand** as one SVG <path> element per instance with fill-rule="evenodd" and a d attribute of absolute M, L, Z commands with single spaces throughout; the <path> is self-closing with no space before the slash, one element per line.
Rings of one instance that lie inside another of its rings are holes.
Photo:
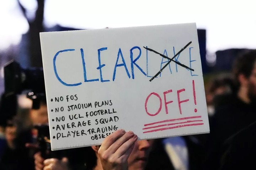
<path fill-rule="evenodd" d="M 237 56 L 232 72 L 211 76 L 205 92 L 208 134 L 138 141 L 133 132 L 117 130 L 101 146 L 58 151 L 50 149 L 45 94 L 30 93 L 27 116 L 1 118 L 0 169 L 251 169 L 256 153 L 256 50 Z M 16 107 L 7 98 L 2 94 L 2 112 Z"/>

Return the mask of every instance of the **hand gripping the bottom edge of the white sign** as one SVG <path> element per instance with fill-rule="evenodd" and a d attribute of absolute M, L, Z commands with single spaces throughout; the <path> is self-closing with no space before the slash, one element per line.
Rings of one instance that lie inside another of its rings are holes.
<path fill-rule="evenodd" d="M 137 139 L 132 131 L 124 130 L 117 130 L 106 137 L 98 150 L 103 170 L 127 170 L 127 160 Z"/>

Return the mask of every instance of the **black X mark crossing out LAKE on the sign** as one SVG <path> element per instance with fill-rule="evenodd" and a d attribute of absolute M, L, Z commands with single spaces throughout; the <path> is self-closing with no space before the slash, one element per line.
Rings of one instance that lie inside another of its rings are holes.
<path fill-rule="evenodd" d="M 175 62 L 176 64 L 178 64 L 178 65 L 180 65 L 180 66 L 182 66 L 182 67 L 184 67 L 184 68 L 187 68 L 187 69 L 189 69 L 189 70 L 194 71 L 194 69 L 192 69 L 192 68 L 190 68 L 190 67 L 188 67 L 188 66 L 186 66 L 186 65 L 184 65 L 184 64 L 181 64 L 180 62 L 177 62 L 177 61 L 173 60 L 177 55 L 179 55 L 183 50 L 185 50 L 185 49 L 188 47 L 188 45 L 190 45 L 191 43 L 192 43 L 192 41 L 189 42 L 187 45 L 185 45 L 185 46 L 184 46 L 175 56 L 173 56 L 171 59 L 170 59 L 169 57 L 163 55 L 163 54 L 158 53 L 158 52 L 155 51 L 155 50 L 152 50 L 152 49 L 150 49 L 150 48 L 146 48 L 145 46 L 143 46 L 145 49 L 147 49 L 147 50 L 149 50 L 149 51 L 152 51 L 152 52 L 154 52 L 154 53 L 156 53 L 156 54 L 159 54 L 160 56 L 164 57 L 165 59 L 169 59 L 169 60 L 170 60 L 170 61 L 168 61 L 167 64 L 164 65 L 164 67 L 162 67 L 161 70 L 160 70 L 158 73 L 156 73 L 156 75 L 155 75 L 154 77 L 152 77 L 149 81 L 151 82 L 154 78 L 156 78 L 156 77 L 162 72 L 162 70 L 164 70 L 164 68 L 165 68 L 168 64 L 170 64 L 171 61 Z"/>

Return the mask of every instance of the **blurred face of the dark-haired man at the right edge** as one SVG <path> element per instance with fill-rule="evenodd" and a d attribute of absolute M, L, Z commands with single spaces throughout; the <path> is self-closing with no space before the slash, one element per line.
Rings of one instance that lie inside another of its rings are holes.
<path fill-rule="evenodd" d="M 256 67 L 248 78 L 248 97 L 252 103 L 256 103 Z"/>

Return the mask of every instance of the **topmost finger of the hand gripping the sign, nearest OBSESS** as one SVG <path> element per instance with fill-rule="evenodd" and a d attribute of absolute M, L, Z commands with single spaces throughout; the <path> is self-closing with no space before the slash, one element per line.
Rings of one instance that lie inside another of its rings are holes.
<path fill-rule="evenodd" d="M 125 131 L 123 129 L 117 130 L 110 136 L 106 137 L 101 144 L 99 150 L 107 150 L 119 137 L 123 136 Z"/>

